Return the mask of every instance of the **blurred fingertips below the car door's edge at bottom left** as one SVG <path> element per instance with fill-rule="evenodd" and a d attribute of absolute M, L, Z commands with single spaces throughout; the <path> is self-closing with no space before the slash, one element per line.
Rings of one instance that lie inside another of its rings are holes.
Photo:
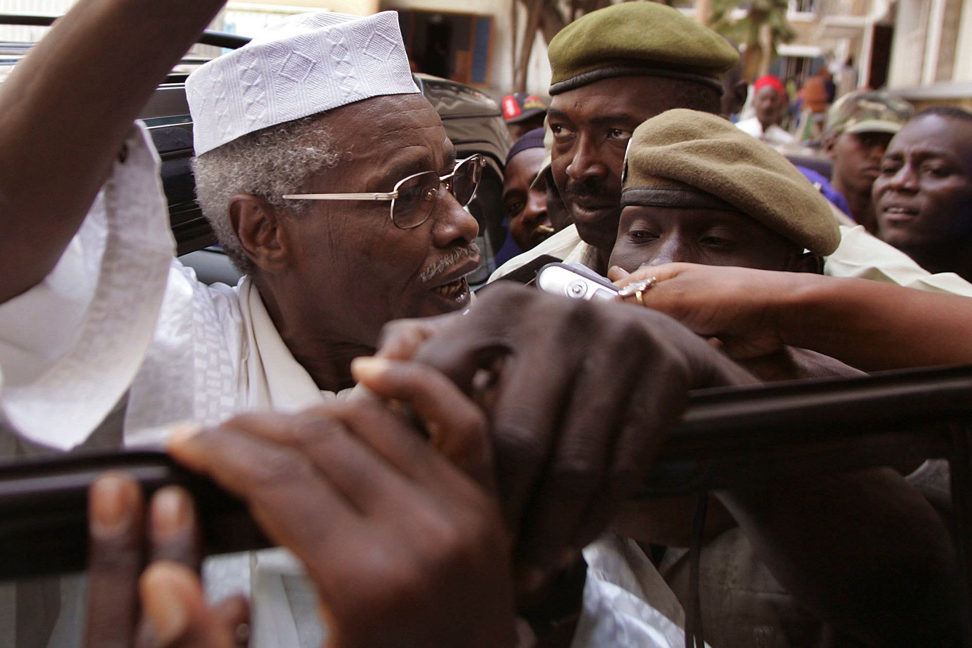
<path fill-rule="evenodd" d="M 87 648 L 236 645 L 234 631 L 248 622 L 249 608 L 241 597 L 215 608 L 206 604 L 186 491 L 162 489 L 146 516 L 137 482 L 106 473 L 91 487 L 88 509 Z"/>

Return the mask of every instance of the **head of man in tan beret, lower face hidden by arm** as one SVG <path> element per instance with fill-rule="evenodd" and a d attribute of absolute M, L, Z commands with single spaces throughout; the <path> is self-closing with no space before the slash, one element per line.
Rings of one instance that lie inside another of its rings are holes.
<path fill-rule="evenodd" d="M 827 200 L 769 146 L 714 115 L 648 119 L 624 161 L 610 265 L 689 262 L 819 272 L 840 243 Z"/>

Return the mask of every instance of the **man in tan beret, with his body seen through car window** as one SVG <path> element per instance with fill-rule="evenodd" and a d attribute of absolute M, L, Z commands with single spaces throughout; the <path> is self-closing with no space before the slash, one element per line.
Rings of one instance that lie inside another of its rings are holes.
<path fill-rule="evenodd" d="M 642 123 L 625 155 L 623 176 L 621 221 L 610 256 L 610 264 L 623 271 L 690 262 L 820 272 L 822 257 L 840 242 L 829 203 L 803 174 L 770 146 L 713 115 L 672 110 Z M 637 303 L 639 290 L 650 290 L 652 279 L 633 284 L 638 290 L 629 290 L 626 300 Z M 790 347 L 772 359 L 744 364 L 763 380 L 859 373 L 833 358 Z M 814 519 L 803 524 L 820 529 L 819 551 L 831 565 L 841 565 L 850 557 L 833 548 L 831 534 L 866 544 L 865 536 L 881 529 L 837 524 L 835 505 L 842 504 L 821 503 L 808 513 Z M 712 646 L 859 645 L 791 596 L 740 528 L 711 533 L 701 557 L 702 626 Z M 692 600 L 688 552 L 669 546 L 657 564 L 687 607 Z M 837 570 L 850 577 L 846 564 Z"/>

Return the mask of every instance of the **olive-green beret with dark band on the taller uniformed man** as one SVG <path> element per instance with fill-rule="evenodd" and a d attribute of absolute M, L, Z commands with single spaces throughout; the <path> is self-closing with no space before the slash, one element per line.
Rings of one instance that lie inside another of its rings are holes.
<path fill-rule="evenodd" d="M 558 32 L 547 49 L 550 94 L 608 77 L 686 79 L 722 91 L 719 77 L 739 61 L 712 29 L 656 2 L 623 2 Z"/>

